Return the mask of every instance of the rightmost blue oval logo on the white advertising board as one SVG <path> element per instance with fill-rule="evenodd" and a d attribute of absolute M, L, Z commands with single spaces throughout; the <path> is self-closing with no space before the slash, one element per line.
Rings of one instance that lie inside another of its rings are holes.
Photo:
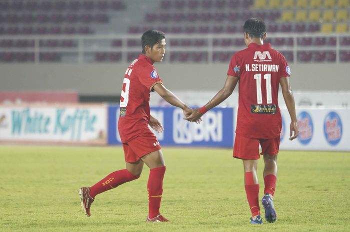
<path fill-rule="evenodd" d="M 335 112 L 329 112 L 323 123 L 324 137 L 327 142 L 335 146 L 340 142 L 342 135 L 342 124 L 339 115 Z"/>

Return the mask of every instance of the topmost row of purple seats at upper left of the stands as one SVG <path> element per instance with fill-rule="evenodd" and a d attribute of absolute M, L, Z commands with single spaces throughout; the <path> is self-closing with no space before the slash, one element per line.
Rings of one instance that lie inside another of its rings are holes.
<path fill-rule="evenodd" d="M 61 10 L 122 10 L 123 0 L 1 0 L 0 12 L 20 11 L 61 11 Z"/>

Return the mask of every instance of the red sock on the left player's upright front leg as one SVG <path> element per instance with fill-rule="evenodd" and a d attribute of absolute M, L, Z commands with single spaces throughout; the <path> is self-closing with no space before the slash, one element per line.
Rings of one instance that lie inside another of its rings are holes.
<path fill-rule="evenodd" d="M 148 217 L 152 219 L 159 214 L 161 195 L 163 193 L 165 166 L 160 168 L 152 168 L 149 171 L 147 183 L 149 208 Z"/>

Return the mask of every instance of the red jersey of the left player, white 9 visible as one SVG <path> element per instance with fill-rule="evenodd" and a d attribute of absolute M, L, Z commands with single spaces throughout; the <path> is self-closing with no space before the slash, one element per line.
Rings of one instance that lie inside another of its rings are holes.
<path fill-rule="evenodd" d="M 149 132 L 149 96 L 156 83 L 162 83 L 152 64 L 140 54 L 127 67 L 120 94 L 118 131 L 122 143 Z"/>

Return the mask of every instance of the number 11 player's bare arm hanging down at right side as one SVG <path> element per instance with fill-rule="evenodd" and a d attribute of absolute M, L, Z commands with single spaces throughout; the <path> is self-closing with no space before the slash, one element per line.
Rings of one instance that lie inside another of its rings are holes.
<path fill-rule="evenodd" d="M 299 133 L 299 129 L 297 127 L 296 113 L 295 113 L 295 102 L 293 92 L 291 91 L 291 87 L 289 84 L 288 77 L 281 77 L 279 79 L 279 84 L 282 88 L 282 94 L 284 98 L 285 105 L 287 106 L 289 116 L 291 119 L 290 122 L 290 132 L 289 132 L 289 140 L 293 140 L 297 137 Z"/>

